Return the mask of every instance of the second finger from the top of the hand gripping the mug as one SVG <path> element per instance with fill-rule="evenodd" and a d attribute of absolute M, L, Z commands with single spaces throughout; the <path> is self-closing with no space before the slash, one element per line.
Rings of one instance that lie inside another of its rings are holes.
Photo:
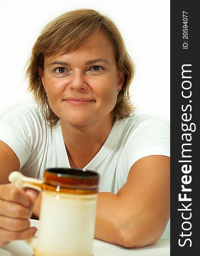
<path fill-rule="evenodd" d="M 0 215 L 11 218 L 30 218 L 31 210 L 27 207 L 23 207 L 20 204 L 13 202 L 3 201 L 0 199 Z"/>

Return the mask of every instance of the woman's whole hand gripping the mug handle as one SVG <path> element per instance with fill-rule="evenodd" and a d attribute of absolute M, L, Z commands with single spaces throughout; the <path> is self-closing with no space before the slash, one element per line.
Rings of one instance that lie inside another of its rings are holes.
<path fill-rule="evenodd" d="M 12 184 L 0 185 L 0 247 L 35 234 L 37 229 L 30 227 L 29 218 L 38 194 L 35 189 L 20 190 Z"/>

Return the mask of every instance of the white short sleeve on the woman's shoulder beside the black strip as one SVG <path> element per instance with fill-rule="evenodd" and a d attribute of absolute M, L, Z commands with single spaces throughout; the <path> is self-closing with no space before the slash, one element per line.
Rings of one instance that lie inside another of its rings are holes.
<path fill-rule="evenodd" d="M 123 179 L 126 181 L 133 164 L 150 155 L 170 157 L 170 127 L 157 119 L 148 119 L 134 126 L 123 149 Z"/>

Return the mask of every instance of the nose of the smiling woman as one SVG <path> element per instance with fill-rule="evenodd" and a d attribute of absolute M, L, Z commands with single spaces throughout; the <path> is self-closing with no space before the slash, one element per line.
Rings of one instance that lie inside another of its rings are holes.
<path fill-rule="evenodd" d="M 87 89 L 86 79 L 81 70 L 74 71 L 70 78 L 70 89 L 78 91 L 83 91 Z"/>

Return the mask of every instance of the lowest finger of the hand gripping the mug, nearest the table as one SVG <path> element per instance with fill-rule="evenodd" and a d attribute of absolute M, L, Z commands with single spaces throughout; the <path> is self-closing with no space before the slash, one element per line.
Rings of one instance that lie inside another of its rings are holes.
<path fill-rule="evenodd" d="M 3 241 L 1 241 L 1 242 L 29 239 L 36 233 L 36 231 L 37 231 L 36 227 L 30 227 L 26 230 L 18 231 L 18 232 L 4 230 L 4 229 L 0 228 L 0 237 L 3 238 Z"/>

